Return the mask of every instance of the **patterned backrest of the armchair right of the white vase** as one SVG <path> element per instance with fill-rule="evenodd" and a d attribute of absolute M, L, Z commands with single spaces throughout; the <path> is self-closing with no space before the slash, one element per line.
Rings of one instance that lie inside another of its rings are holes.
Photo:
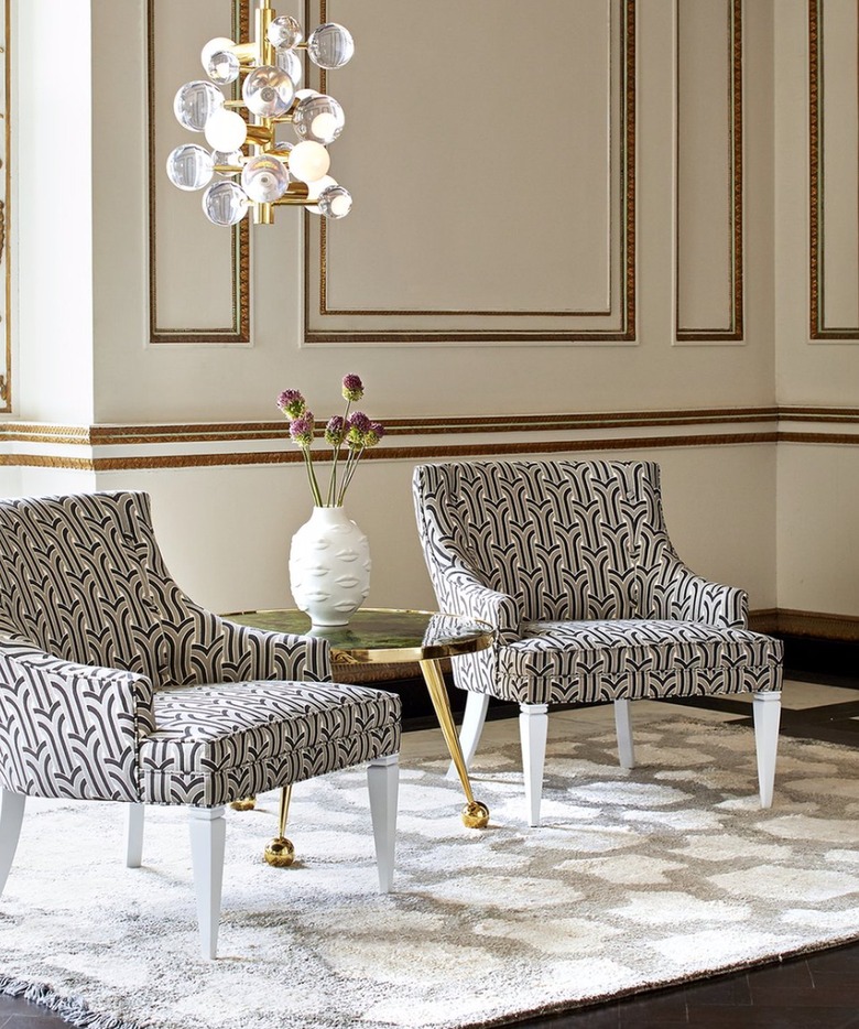
<path fill-rule="evenodd" d="M 653 462 L 422 465 L 414 490 L 439 603 L 458 564 L 526 620 L 632 618 L 642 566 L 671 548 Z"/>

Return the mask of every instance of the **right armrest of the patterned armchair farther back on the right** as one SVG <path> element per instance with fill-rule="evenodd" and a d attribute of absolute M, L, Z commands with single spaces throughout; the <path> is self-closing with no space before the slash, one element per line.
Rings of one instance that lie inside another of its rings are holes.
<path fill-rule="evenodd" d="M 749 598 L 737 586 L 711 583 L 674 555 L 666 555 L 652 591 L 648 617 L 674 621 L 699 621 L 724 629 L 744 629 L 749 622 Z"/>

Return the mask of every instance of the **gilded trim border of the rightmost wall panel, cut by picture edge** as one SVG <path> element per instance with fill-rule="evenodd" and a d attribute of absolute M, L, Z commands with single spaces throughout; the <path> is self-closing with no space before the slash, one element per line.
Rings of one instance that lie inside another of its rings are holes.
<path fill-rule="evenodd" d="M 851 340 L 859 339 L 859 327 L 824 324 L 823 9 L 824 0 L 808 0 L 808 333 L 812 339 Z"/>

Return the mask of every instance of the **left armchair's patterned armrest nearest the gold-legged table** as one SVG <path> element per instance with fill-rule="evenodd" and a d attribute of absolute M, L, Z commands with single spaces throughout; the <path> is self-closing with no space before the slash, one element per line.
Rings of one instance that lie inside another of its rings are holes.
<path fill-rule="evenodd" d="M 188 618 L 168 628 L 176 641 L 170 664 L 180 685 L 253 679 L 330 682 L 330 645 L 317 637 L 272 632 L 229 621 L 196 605 Z"/>

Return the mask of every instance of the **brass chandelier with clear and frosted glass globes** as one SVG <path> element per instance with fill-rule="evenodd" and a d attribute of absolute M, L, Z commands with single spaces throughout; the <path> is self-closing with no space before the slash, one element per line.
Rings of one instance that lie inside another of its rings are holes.
<path fill-rule="evenodd" d="M 180 124 L 200 132 L 207 147 L 184 143 L 167 158 L 167 176 L 180 189 L 203 189 L 203 212 L 215 225 L 236 225 L 248 212 L 257 225 L 274 221 L 276 205 L 301 206 L 326 218 L 349 214 L 352 198 L 328 174 L 327 147 L 346 118 L 334 97 L 301 88 L 306 56 L 334 71 L 352 56 L 347 29 L 318 25 L 306 39 L 291 15 L 278 17 L 260 0 L 255 41 L 209 40 L 200 59 L 208 76 L 186 83 L 173 110 Z M 241 99 L 221 86 L 241 82 Z M 291 124 L 295 139 L 280 140 Z"/>

